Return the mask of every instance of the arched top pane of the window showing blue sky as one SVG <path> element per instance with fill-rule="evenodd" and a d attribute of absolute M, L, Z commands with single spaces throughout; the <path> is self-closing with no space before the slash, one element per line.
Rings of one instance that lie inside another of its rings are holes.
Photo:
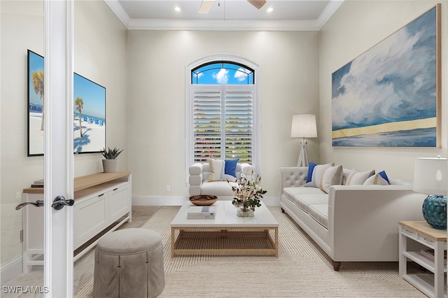
<path fill-rule="evenodd" d="M 192 84 L 251 85 L 253 69 L 230 62 L 203 64 L 191 71 Z"/>

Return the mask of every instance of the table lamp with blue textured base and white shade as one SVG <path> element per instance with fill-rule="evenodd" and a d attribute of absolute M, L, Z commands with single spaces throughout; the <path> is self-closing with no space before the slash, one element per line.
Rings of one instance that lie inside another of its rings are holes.
<path fill-rule="evenodd" d="M 423 201 L 423 218 L 435 229 L 447 229 L 447 159 L 417 158 L 414 192 L 429 194 Z"/>

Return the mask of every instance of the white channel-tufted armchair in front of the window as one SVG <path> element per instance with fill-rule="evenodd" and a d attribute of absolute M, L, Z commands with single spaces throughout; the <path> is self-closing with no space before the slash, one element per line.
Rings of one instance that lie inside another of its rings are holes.
<path fill-rule="evenodd" d="M 227 180 L 209 181 L 211 171 L 208 163 L 193 164 L 188 169 L 188 172 L 190 173 L 188 178 L 190 196 L 210 194 L 215 195 L 218 199 L 232 200 L 234 198 L 232 186 L 229 185 Z M 251 176 L 253 173 L 255 173 L 255 168 L 251 164 L 237 163 L 235 169 L 237 179 L 241 178 L 241 175 Z M 230 182 L 230 184 L 237 185 L 235 182 Z"/>

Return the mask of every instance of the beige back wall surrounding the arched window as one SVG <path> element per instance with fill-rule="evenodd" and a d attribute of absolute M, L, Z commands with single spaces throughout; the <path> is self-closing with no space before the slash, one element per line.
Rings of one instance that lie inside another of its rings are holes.
<path fill-rule="evenodd" d="M 185 67 L 227 53 L 260 67 L 260 174 L 266 197 L 278 197 L 279 166 L 294 166 L 299 155 L 292 116 L 318 113 L 318 32 L 130 31 L 128 44 L 133 196 L 188 196 Z M 312 160 L 316 144 L 309 140 Z"/>

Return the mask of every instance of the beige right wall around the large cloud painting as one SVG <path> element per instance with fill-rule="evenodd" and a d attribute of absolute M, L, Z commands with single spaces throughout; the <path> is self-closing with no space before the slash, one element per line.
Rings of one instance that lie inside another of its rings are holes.
<path fill-rule="evenodd" d="M 331 146 L 331 75 L 416 17 L 442 3 L 442 148 L 333 148 Z M 414 180 L 415 157 L 447 157 L 447 1 L 346 0 L 320 31 L 321 162 L 352 169 L 386 170 L 389 176 Z"/>

